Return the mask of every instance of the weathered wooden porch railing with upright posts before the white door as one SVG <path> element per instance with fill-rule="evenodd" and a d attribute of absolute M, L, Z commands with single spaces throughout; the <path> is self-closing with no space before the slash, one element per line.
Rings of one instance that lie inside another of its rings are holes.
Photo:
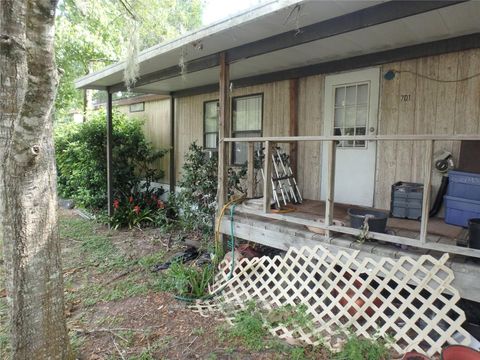
<path fill-rule="evenodd" d="M 334 184 L 335 184 L 335 157 L 336 157 L 336 141 L 342 140 L 359 140 L 359 141 L 420 141 L 426 144 L 426 151 L 424 155 L 424 183 L 423 183 L 423 203 L 422 203 L 422 218 L 420 224 L 420 238 L 412 239 L 404 236 L 389 235 L 383 233 L 370 232 L 369 238 L 375 240 L 381 240 L 390 243 L 403 244 L 407 246 L 435 250 L 440 252 L 448 252 L 451 254 L 458 254 L 464 256 L 471 256 L 480 258 L 480 250 L 465 248 L 456 245 L 442 244 L 429 242 L 428 235 L 428 221 L 430 210 L 430 187 L 432 179 L 432 162 L 433 162 L 433 149 L 435 141 L 474 141 L 480 140 L 479 135 L 376 135 L 376 136 L 283 136 L 283 137 L 245 137 L 245 138 L 224 138 L 224 143 L 229 144 L 232 142 L 246 142 L 248 143 L 248 168 L 247 168 L 247 181 L 248 188 L 253 189 L 254 177 L 253 177 L 253 162 L 254 162 L 254 144 L 263 143 L 265 148 L 265 159 L 271 158 L 271 151 L 277 143 L 292 143 L 299 141 L 318 141 L 326 142 L 327 146 L 327 181 L 326 181 L 326 199 L 325 199 L 325 218 L 324 222 L 313 221 L 307 219 L 300 219 L 297 217 L 291 217 L 283 214 L 274 214 L 270 212 L 270 200 L 271 200 L 271 181 L 264 181 L 263 186 L 263 213 L 262 216 L 273 218 L 277 220 L 284 220 L 291 223 L 314 226 L 321 228 L 325 231 L 325 237 L 330 238 L 332 232 L 349 234 L 358 236 L 361 234 L 361 230 L 354 229 L 347 226 L 338 226 L 333 224 L 333 207 L 334 207 Z M 230 146 L 224 146 L 225 150 L 229 152 Z M 480 154 L 479 154 L 480 156 Z M 271 161 L 264 162 L 264 174 L 265 179 L 271 177 L 272 163 Z M 226 189 L 224 189 L 226 192 Z M 249 190 L 251 191 L 251 190 Z M 252 195 L 250 192 L 248 195 Z M 320 220 L 320 219 L 319 219 Z"/>

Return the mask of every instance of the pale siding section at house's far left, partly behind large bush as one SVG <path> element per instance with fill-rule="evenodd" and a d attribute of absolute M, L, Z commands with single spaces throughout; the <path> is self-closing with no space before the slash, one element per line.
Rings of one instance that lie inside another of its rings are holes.
<path fill-rule="evenodd" d="M 170 148 L 170 99 L 161 99 L 145 102 L 145 111 L 130 112 L 129 105 L 120 105 L 118 110 L 131 117 L 143 119 L 145 138 L 150 141 L 154 149 Z M 154 166 L 164 171 L 164 176 L 160 179 L 163 183 L 169 183 L 170 174 L 170 156 L 165 156 L 157 160 Z"/>

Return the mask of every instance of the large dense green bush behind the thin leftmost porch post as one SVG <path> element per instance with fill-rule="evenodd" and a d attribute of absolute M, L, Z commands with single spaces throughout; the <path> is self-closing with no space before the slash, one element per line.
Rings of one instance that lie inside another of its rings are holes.
<path fill-rule="evenodd" d="M 105 112 L 97 111 L 82 124 L 55 129 L 58 191 L 91 209 L 107 204 Z M 128 194 L 141 180 L 155 181 L 163 171 L 151 167 L 168 150 L 153 150 L 146 141 L 142 121 L 114 111 L 112 134 L 113 189 Z M 119 195 L 118 195 L 119 196 Z"/>

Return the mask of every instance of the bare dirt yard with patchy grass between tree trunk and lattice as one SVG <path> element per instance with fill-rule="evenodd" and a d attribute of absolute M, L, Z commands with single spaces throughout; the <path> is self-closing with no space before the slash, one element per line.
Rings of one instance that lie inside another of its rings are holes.
<path fill-rule="evenodd" d="M 202 317 L 158 290 L 150 269 L 178 251 L 176 234 L 109 231 L 63 209 L 60 232 L 68 327 L 78 359 L 292 358 L 286 344 L 251 351 L 226 339 L 222 319 Z"/>

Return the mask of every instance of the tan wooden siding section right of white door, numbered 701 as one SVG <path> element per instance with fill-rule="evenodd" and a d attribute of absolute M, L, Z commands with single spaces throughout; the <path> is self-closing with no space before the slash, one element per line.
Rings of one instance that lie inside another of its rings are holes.
<path fill-rule="evenodd" d="M 480 49 L 387 64 L 381 73 L 390 69 L 401 73 L 381 79 L 379 134 L 480 134 L 480 77 L 454 81 L 480 72 Z M 458 164 L 460 143 L 436 142 L 434 151 L 440 149 L 451 151 Z M 379 143 L 376 207 L 390 207 L 393 183 L 423 182 L 424 150 L 418 142 Z M 441 182 L 435 170 L 432 182 L 435 196 Z"/>

